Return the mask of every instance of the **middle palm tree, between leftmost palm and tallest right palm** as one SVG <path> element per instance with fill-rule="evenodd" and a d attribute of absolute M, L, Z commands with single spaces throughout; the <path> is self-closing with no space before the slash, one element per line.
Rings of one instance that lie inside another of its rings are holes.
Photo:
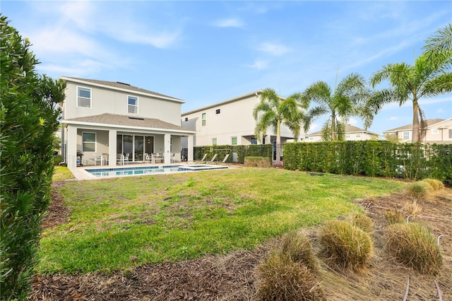
<path fill-rule="evenodd" d="M 303 98 L 316 102 L 317 106 L 309 110 L 306 126 L 309 128 L 314 119 L 329 114 L 322 128 L 323 141 L 344 140 L 345 124 L 352 116 L 362 117 L 365 128 L 370 126 L 372 114 L 363 107 L 370 94 L 365 83 L 363 76 L 351 73 L 340 81 L 334 91 L 324 81 L 310 85 L 304 91 Z"/>

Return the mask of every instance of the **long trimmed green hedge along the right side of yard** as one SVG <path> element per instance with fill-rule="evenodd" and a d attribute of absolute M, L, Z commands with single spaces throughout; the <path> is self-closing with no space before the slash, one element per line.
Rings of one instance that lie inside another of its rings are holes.
<path fill-rule="evenodd" d="M 413 180 L 431 177 L 452 185 L 452 144 L 389 141 L 286 143 L 284 167 L 288 170 Z"/>

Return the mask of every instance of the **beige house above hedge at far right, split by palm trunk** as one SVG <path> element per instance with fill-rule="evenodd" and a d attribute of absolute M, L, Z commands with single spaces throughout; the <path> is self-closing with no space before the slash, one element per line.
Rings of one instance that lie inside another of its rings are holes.
<path fill-rule="evenodd" d="M 422 139 L 424 143 L 452 143 L 452 118 L 427 119 L 427 131 Z M 396 136 L 400 142 L 411 142 L 412 124 L 400 126 L 396 129 L 383 131 L 386 136 Z"/>

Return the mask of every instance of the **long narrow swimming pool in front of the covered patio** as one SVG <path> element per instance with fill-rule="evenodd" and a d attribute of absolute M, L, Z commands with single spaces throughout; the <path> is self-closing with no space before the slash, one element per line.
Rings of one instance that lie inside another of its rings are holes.
<path fill-rule="evenodd" d="M 224 170 L 222 165 L 163 165 L 146 167 L 115 167 L 86 170 L 95 177 L 125 177 L 133 175 L 166 174 L 174 172 L 195 172 L 200 170 Z"/>

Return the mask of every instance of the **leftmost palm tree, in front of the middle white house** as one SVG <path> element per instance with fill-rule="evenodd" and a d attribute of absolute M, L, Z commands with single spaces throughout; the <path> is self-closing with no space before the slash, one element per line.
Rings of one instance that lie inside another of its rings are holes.
<path fill-rule="evenodd" d="M 255 136 L 261 140 L 269 126 L 276 133 L 276 144 L 281 143 L 281 125 L 285 124 L 298 139 L 301 125 L 309 103 L 302 98 L 301 93 L 294 93 L 288 98 L 281 98 L 275 90 L 266 88 L 261 92 L 261 101 L 254 107 L 253 117 L 256 120 Z"/>

